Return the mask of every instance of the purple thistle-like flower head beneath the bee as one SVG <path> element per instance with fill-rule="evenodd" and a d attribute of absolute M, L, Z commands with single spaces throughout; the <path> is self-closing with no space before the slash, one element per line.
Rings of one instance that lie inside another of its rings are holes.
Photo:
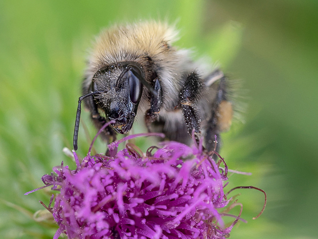
<path fill-rule="evenodd" d="M 59 225 L 55 239 L 61 233 L 82 239 L 229 236 L 242 209 L 232 224 L 224 224 L 222 217 L 229 214 L 222 210 L 239 205 L 230 206 L 231 198 L 224 193 L 228 184 L 224 160 L 221 169 L 201 145 L 189 147 L 174 141 L 150 147 L 146 153 L 127 144 L 117 153 L 121 142 L 150 135 L 163 136 L 127 136 L 108 146 L 110 157 L 90 156 L 95 138 L 81 162 L 73 152 L 75 170 L 62 162 L 42 177 L 46 186 L 59 192 L 46 207 Z"/>

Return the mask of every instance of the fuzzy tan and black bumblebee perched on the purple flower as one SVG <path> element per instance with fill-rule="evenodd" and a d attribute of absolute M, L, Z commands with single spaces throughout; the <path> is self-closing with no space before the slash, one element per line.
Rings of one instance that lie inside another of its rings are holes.
<path fill-rule="evenodd" d="M 81 102 L 90 111 L 109 143 L 126 134 L 135 118 L 144 118 L 148 131 L 191 144 L 203 136 L 208 151 L 215 136 L 232 122 L 229 80 L 220 69 L 210 72 L 192 60 L 189 50 L 172 43 L 178 32 L 167 23 L 139 22 L 101 32 L 88 57 L 74 130 L 74 150 Z M 216 151 L 218 151 L 217 144 Z"/>

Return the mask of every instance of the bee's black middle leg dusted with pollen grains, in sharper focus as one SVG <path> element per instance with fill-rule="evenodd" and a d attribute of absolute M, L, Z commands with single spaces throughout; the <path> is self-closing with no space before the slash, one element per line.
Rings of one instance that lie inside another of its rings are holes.
<path fill-rule="evenodd" d="M 192 134 L 194 130 L 196 140 L 201 136 L 201 117 L 198 112 L 197 103 L 202 93 L 203 84 L 196 72 L 191 72 L 181 89 L 179 104 L 188 128 L 188 133 Z"/>

